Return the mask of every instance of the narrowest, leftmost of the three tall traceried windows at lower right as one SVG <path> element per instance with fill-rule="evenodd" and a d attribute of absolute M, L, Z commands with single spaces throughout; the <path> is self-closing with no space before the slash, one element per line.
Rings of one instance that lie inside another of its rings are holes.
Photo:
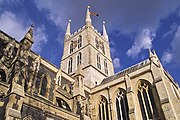
<path fill-rule="evenodd" d="M 100 97 L 99 102 L 99 120 L 109 120 L 108 102 L 103 96 Z"/>

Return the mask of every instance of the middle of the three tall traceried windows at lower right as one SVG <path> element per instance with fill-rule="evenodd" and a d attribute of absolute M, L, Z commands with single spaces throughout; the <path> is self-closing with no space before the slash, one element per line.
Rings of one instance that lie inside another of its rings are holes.
<path fill-rule="evenodd" d="M 129 108 L 125 91 L 119 91 L 116 97 L 116 110 L 118 120 L 129 120 Z"/>

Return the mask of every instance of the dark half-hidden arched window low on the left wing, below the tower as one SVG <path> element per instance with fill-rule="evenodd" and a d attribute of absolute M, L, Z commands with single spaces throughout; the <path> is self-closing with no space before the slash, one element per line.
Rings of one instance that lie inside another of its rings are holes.
<path fill-rule="evenodd" d="M 68 110 L 68 111 L 71 111 L 68 103 L 67 103 L 65 100 L 63 100 L 63 99 L 61 99 L 61 98 L 56 98 L 56 101 L 57 101 L 57 105 L 58 105 L 60 108 L 63 108 L 63 109 Z"/>

